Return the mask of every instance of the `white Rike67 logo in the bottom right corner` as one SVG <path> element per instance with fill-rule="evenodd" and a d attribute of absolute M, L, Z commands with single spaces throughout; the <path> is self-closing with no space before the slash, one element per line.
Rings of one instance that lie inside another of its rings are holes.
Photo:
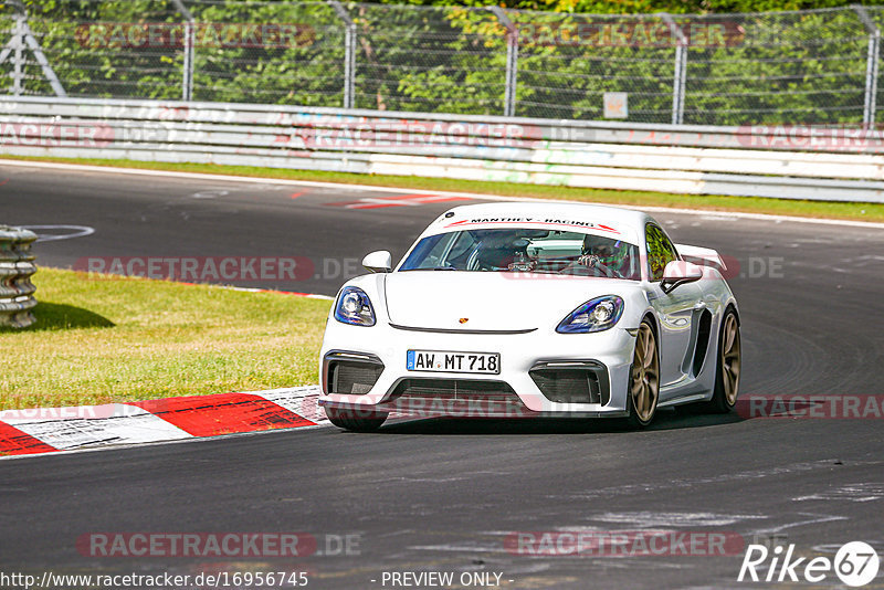
<path fill-rule="evenodd" d="M 828 557 L 794 556 L 794 544 L 786 549 L 781 545 L 768 549 L 764 545 L 749 545 L 737 581 L 743 582 L 811 582 L 832 583 L 836 576 L 842 583 L 857 588 L 877 576 L 880 559 L 874 548 L 863 541 L 848 542 L 838 550 L 834 559 Z"/>

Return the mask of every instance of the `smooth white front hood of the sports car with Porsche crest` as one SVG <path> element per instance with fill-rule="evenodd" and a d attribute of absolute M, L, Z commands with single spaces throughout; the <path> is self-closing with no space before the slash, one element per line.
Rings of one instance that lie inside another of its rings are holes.
<path fill-rule="evenodd" d="M 581 303 L 635 286 L 633 281 L 597 277 L 407 271 L 386 275 L 385 295 L 391 324 L 508 331 L 554 329 Z"/>

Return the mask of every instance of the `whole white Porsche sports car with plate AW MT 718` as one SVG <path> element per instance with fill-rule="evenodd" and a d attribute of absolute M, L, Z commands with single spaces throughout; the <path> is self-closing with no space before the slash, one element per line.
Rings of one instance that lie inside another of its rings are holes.
<path fill-rule="evenodd" d="M 687 259 L 698 263 L 688 262 Z M 393 413 L 621 417 L 718 412 L 737 399 L 739 309 L 718 253 L 673 244 L 646 213 L 579 203 L 457 207 L 396 268 L 362 264 L 329 313 L 329 420 Z"/>

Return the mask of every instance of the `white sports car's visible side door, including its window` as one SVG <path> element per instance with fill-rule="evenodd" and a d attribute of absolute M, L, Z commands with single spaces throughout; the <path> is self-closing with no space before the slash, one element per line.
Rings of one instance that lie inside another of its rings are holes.
<path fill-rule="evenodd" d="M 651 281 L 649 298 L 660 318 L 660 384 L 665 387 L 686 377 L 684 367 L 690 364 L 684 360 L 693 343 L 692 324 L 698 305 L 702 306 L 703 291 L 698 283 L 686 283 L 669 293 L 663 292 L 663 270 L 670 262 L 678 260 L 678 254 L 666 233 L 655 223 L 645 226 L 645 247 Z M 661 394 L 661 399 L 665 397 Z"/>

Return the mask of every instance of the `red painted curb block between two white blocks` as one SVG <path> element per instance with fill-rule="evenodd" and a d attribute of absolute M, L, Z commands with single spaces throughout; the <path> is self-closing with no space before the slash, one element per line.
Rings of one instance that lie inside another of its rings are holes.
<path fill-rule="evenodd" d="M 315 422 L 252 393 L 167 398 L 130 404 L 147 410 L 193 436 L 315 425 Z"/>

